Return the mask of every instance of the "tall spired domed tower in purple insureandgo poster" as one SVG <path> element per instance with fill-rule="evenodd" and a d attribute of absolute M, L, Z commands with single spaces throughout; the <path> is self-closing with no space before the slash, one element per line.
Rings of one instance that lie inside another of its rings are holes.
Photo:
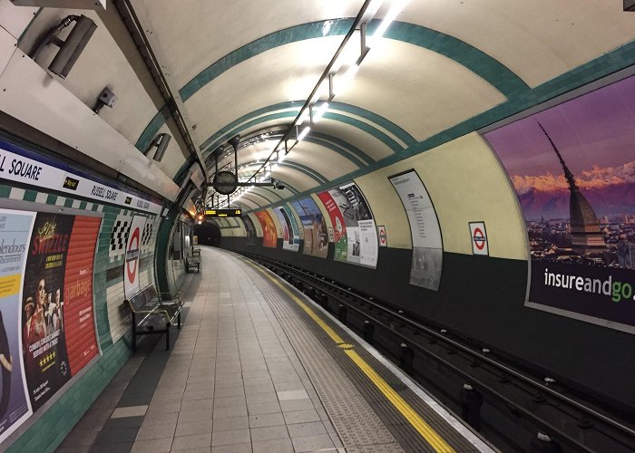
<path fill-rule="evenodd" d="M 547 131 L 544 130 L 540 122 L 538 125 L 542 129 L 542 132 L 544 132 L 544 135 L 547 136 L 547 140 L 549 140 L 553 150 L 558 156 L 562 170 L 564 171 L 564 178 L 566 178 L 569 183 L 569 191 L 571 192 L 569 217 L 571 221 L 572 248 L 574 251 L 580 253 L 580 255 L 600 253 L 606 248 L 604 235 L 600 230 L 600 220 L 595 215 L 595 211 L 591 207 L 589 200 L 582 195 L 580 188 L 578 188 L 575 182 L 575 177 L 564 163 L 564 159 L 562 159 L 552 138 Z"/>

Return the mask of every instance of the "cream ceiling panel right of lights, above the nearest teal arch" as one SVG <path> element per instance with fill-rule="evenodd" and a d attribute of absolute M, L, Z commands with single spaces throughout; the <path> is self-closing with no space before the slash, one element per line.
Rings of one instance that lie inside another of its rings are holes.
<path fill-rule="evenodd" d="M 425 0 L 398 20 L 470 43 L 532 87 L 635 39 L 621 0 Z"/>

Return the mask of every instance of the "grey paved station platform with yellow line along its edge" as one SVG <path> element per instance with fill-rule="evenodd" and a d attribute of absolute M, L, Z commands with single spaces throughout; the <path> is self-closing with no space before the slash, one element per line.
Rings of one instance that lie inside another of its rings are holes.
<path fill-rule="evenodd" d="M 496 451 L 278 275 L 200 261 L 170 351 L 143 337 L 57 451 Z"/>

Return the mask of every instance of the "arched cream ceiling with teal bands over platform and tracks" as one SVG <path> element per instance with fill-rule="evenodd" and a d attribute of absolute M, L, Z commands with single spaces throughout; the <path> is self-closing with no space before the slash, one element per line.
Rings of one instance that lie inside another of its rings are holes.
<path fill-rule="evenodd" d="M 211 151 L 234 135 L 288 128 L 363 4 L 132 1 L 169 62 L 209 167 Z M 368 34 L 377 24 L 368 24 Z M 483 127 L 541 101 L 543 87 L 553 92 L 568 72 L 605 53 L 629 53 L 633 38 L 631 18 L 603 0 L 410 1 L 347 92 L 273 171 L 287 188 L 254 188 L 244 204 L 277 203 Z M 357 33 L 345 53 L 358 53 L 358 45 Z M 151 120 L 138 148 L 165 116 Z M 239 174 L 248 178 L 271 148 L 241 147 Z M 231 167 L 233 157 L 219 165 Z"/>

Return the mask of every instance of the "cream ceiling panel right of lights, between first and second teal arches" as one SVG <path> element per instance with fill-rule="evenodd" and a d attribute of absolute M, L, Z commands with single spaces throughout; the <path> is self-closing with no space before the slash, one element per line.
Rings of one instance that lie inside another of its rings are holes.
<path fill-rule="evenodd" d="M 505 100 L 489 82 L 454 60 L 397 41 L 371 49 L 347 92 L 336 96 L 336 101 L 393 121 L 416 140 Z"/>

